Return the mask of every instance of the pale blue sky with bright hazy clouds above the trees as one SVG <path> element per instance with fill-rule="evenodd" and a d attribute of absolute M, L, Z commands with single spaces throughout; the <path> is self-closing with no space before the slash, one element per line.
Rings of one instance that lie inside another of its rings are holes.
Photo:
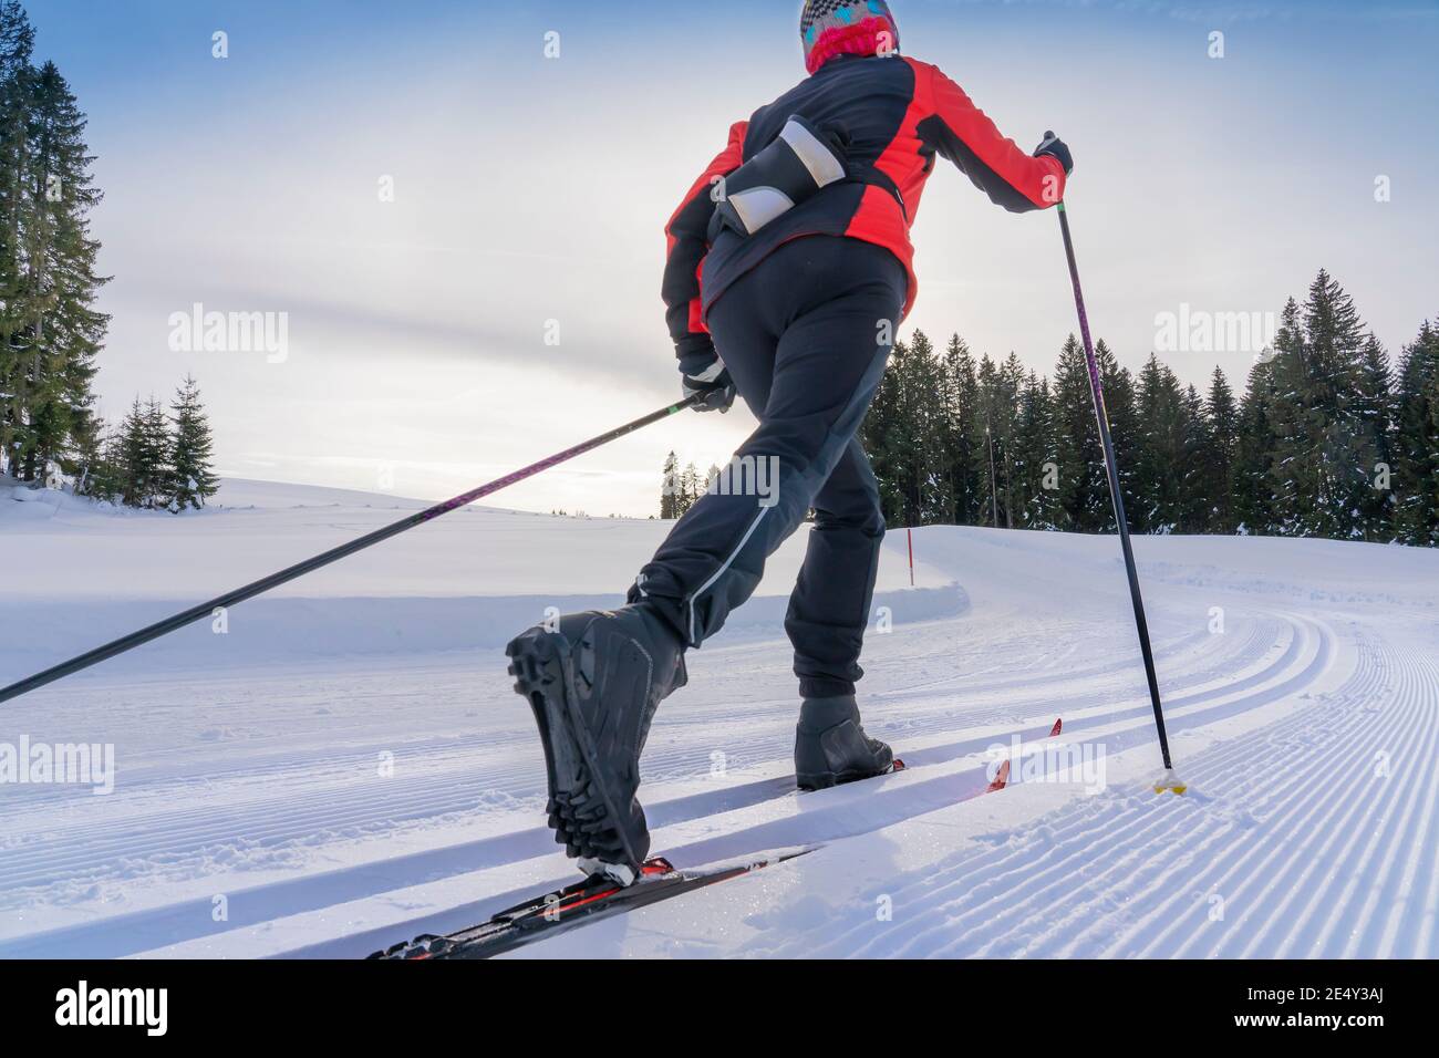
<path fill-rule="evenodd" d="M 27 7 L 37 56 L 89 115 L 106 196 L 104 410 L 191 371 L 222 471 L 407 495 L 460 491 L 671 399 L 661 227 L 728 124 L 804 73 L 799 3 L 776 0 Z M 1439 315 L 1436 4 L 892 7 L 904 50 L 1009 135 L 1029 147 L 1055 128 L 1072 145 L 1091 321 L 1125 364 L 1154 347 L 1158 314 L 1276 312 L 1320 266 L 1392 353 Z M 958 330 L 1049 370 L 1075 327 L 1055 227 L 941 166 L 905 330 Z M 194 302 L 288 314 L 283 363 L 173 350 L 170 317 Z M 1222 364 L 1239 386 L 1252 354 L 1164 358 L 1194 383 Z M 504 502 L 648 514 L 668 449 L 720 461 L 751 426 L 684 416 Z"/>

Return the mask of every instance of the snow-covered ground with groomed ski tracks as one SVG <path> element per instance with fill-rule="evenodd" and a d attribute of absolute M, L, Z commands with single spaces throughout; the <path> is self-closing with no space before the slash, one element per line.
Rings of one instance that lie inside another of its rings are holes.
<path fill-rule="evenodd" d="M 420 505 L 259 482 L 180 518 L 24 499 L 0 488 L 0 684 Z M 108 795 L 0 785 L 0 956 L 360 956 L 568 881 L 502 645 L 545 607 L 616 602 L 663 531 L 471 508 L 235 607 L 223 635 L 0 705 L 0 744 L 115 750 Z M 786 782 L 802 531 L 691 655 L 643 796 L 681 867 L 823 848 L 518 954 L 1439 956 L 1439 554 L 1137 540 L 1176 797 L 1145 785 L 1115 540 L 914 544 L 917 587 L 888 541 L 862 688 L 909 770 Z M 1012 780 L 986 795 L 996 746 Z"/>

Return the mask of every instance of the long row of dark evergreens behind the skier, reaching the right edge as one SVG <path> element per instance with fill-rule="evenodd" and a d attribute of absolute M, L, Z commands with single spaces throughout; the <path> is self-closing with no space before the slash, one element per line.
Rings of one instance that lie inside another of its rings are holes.
<path fill-rule="evenodd" d="M 1353 298 L 1320 272 L 1282 312 L 1242 396 L 1204 392 L 1158 357 L 1120 367 L 1099 341 L 1109 428 L 1135 533 L 1245 533 L 1439 544 L 1439 327 L 1393 367 Z M 954 335 L 898 343 L 861 438 L 892 525 L 1112 533 L 1084 348 L 1050 376 Z M 661 517 L 686 508 L 673 453 Z"/>

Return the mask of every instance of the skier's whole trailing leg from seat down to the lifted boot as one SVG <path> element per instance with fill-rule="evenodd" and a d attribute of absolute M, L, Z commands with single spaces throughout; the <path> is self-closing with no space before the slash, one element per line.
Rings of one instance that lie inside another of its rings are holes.
<path fill-rule="evenodd" d="M 755 406 L 763 364 L 774 361 L 761 425 L 737 456 L 761 471 L 754 488 L 701 497 L 642 571 L 632 605 L 568 615 L 508 645 L 544 741 L 550 826 L 586 872 L 636 877 L 649 831 L 635 792 L 655 710 L 685 684 L 685 645 L 750 596 L 835 471 L 879 384 L 904 297 L 899 262 L 849 239 L 796 240 L 735 284 L 711 330 Z"/>

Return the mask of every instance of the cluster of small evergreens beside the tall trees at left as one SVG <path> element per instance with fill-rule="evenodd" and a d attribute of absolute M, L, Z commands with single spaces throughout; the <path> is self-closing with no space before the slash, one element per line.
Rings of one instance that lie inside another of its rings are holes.
<path fill-rule="evenodd" d="M 210 423 L 194 379 L 184 380 L 168 412 L 154 397 L 145 403 L 135 397 L 118 428 L 82 453 L 86 469 L 76 492 L 147 510 L 204 507 L 220 481 L 210 462 Z"/>

